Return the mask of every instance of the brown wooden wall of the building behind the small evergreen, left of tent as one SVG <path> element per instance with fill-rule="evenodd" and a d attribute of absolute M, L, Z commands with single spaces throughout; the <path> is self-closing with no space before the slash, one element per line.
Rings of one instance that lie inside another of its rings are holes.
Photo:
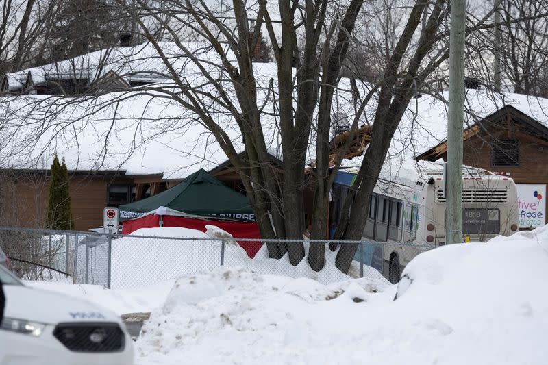
<path fill-rule="evenodd" d="M 0 170 L 0 226 L 44 227 L 49 179 L 49 170 Z M 69 171 L 69 179 L 75 228 L 80 231 L 100 227 L 104 207 L 144 199 L 180 181 L 125 171 Z"/>

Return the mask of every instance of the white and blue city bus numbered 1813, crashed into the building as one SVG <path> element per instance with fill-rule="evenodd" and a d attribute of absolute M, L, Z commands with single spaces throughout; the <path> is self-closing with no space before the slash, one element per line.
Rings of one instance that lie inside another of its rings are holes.
<path fill-rule="evenodd" d="M 510 177 L 475 170 L 462 177 L 462 242 L 486 242 L 519 229 L 516 184 Z M 331 234 L 356 175 L 338 172 L 332 191 Z M 383 242 L 358 249 L 355 260 L 379 270 L 390 282 L 419 253 L 445 244 L 443 173 L 429 173 L 415 184 L 379 179 L 373 190 L 362 240 Z"/>

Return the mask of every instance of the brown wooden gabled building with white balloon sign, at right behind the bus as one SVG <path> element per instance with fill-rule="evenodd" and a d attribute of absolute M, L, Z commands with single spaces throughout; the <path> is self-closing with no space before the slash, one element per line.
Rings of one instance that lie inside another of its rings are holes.
<path fill-rule="evenodd" d="M 548 212 L 548 127 L 506 105 L 464 129 L 463 163 L 512 177 L 522 229 L 545 225 Z M 447 160 L 447 141 L 416 160 Z"/>

